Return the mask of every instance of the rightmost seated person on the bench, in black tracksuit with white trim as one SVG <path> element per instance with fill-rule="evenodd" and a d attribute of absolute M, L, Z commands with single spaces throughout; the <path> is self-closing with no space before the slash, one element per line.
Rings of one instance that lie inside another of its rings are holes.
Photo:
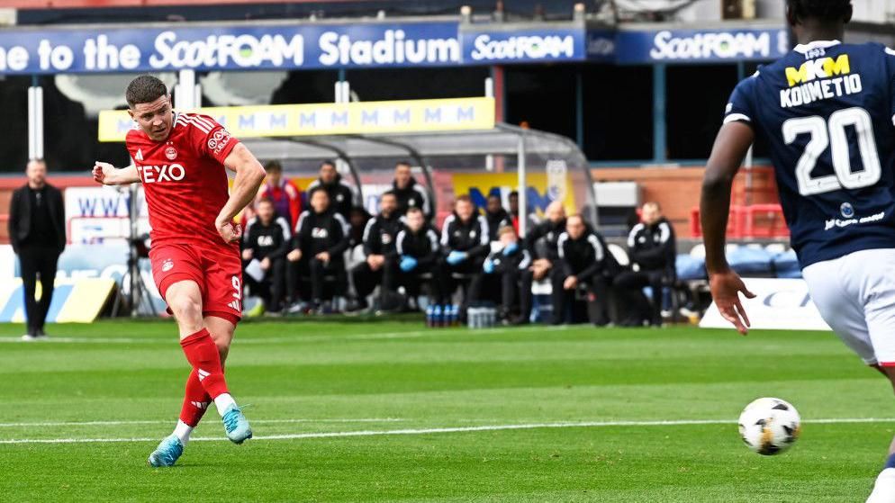
<path fill-rule="evenodd" d="M 663 287 L 674 282 L 677 276 L 674 268 L 677 258 L 674 227 L 662 216 L 662 209 L 657 202 L 646 202 L 640 218 L 641 223 L 635 225 L 628 234 L 628 254 L 631 264 L 637 265 L 637 271 L 619 274 L 615 279 L 616 292 L 624 300 L 624 305 L 631 307 L 637 306 L 637 298 L 640 298 L 643 288 L 650 287 L 653 299 L 649 322 L 660 326 Z M 644 314 L 628 312 L 622 324 L 639 326 L 645 318 Z"/>

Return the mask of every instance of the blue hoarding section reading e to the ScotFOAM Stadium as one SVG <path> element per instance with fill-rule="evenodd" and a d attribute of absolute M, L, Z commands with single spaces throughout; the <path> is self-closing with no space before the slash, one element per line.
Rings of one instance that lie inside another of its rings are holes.
<path fill-rule="evenodd" d="M 0 31 L 0 73 L 460 64 L 456 22 Z"/>

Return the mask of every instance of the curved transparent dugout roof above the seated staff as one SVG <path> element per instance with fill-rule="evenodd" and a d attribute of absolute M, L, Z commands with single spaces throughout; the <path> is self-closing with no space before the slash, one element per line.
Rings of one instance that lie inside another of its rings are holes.
<path fill-rule="evenodd" d="M 279 160 L 290 172 L 316 171 L 321 159 L 340 159 L 348 165 L 358 189 L 362 186 L 362 175 L 391 170 L 395 161 L 406 159 L 420 166 L 433 201 L 438 196 L 438 191 L 432 190 L 435 169 L 519 174 L 522 166 L 529 181 L 533 180 L 532 176 L 546 175 L 547 191 L 571 191 L 575 206 L 597 223 L 587 159 L 574 141 L 547 131 L 497 123 L 491 130 L 245 138 L 242 141 L 259 159 Z M 556 198 L 557 194 L 551 195 Z"/>

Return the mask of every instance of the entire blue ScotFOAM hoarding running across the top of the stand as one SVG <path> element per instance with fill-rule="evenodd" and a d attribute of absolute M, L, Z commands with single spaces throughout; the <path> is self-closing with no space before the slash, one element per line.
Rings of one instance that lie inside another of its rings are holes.
<path fill-rule="evenodd" d="M 537 62 L 700 63 L 780 58 L 780 28 L 588 30 L 583 23 L 357 22 L 0 31 L 0 75 L 451 67 Z"/>

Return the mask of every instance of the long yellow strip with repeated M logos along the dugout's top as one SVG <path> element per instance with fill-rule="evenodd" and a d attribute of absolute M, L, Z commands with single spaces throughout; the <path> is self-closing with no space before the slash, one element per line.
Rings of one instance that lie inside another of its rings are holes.
<path fill-rule="evenodd" d="M 203 108 L 236 138 L 313 136 L 494 127 L 493 98 L 368 103 L 278 104 Z M 134 122 L 127 111 L 99 114 L 99 140 L 124 141 Z"/>

